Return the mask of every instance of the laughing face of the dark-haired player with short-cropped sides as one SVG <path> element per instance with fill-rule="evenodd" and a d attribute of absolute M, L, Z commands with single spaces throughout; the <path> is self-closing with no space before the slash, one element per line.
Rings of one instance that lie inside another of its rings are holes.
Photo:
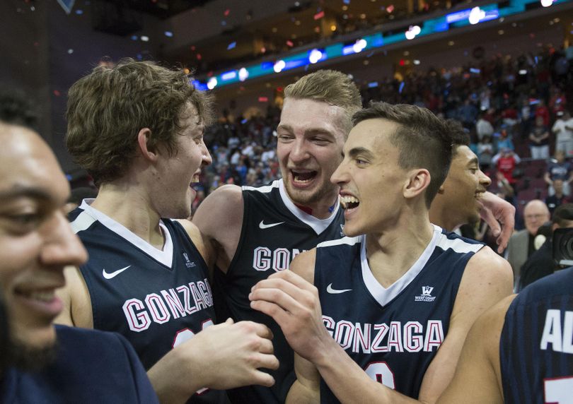
<path fill-rule="evenodd" d="M 347 236 L 381 232 L 398 219 L 407 171 L 398 166 L 398 148 L 390 143 L 397 128 L 386 119 L 367 119 L 350 131 L 344 160 L 331 179 L 340 186 Z"/>

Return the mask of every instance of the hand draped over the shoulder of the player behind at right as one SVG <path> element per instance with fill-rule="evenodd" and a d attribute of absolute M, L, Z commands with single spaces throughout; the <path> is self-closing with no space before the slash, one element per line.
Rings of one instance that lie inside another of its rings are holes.
<path fill-rule="evenodd" d="M 509 237 L 514 232 L 515 207 L 489 191 L 485 192 L 481 201 L 480 215 L 490 225 L 492 234 L 497 237 L 496 242 L 499 246 L 497 251 L 501 254 L 506 249 Z"/>

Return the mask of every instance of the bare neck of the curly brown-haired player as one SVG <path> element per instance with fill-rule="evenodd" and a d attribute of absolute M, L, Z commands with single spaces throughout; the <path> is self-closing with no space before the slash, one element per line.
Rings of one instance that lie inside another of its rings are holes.
<path fill-rule="evenodd" d="M 91 206 L 152 246 L 163 249 L 165 240 L 159 227 L 160 217 L 141 189 L 125 186 L 120 181 L 102 184 Z"/>

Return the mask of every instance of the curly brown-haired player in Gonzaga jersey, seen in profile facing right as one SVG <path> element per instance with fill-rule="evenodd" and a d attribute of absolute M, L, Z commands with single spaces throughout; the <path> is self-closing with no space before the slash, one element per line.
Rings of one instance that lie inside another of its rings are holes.
<path fill-rule="evenodd" d="M 191 222 L 162 219 L 190 215 L 192 184 L 211 162 L 209 108 L 185 73 L 147 61 L 98 67 L 69 90 L 66 145 L 99 193 L 69 215 L 90 259 L 67 271 L 59 320 L 125 335 L 166 402 L 270 386 L 257 368 L 278 365 L 265 326 L 213 326 L 209 244 Z"/>

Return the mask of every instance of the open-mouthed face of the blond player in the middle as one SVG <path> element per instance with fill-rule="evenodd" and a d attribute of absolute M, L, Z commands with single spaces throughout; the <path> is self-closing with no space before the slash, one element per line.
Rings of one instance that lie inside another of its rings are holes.
<path fill-rule="evenodd" d="M 330 176 L 345 143 L 345 116 L 340 107 L 315 100 L 287 98 L 277 127 L 277 155 L 284 186 L 294 203 L 313 207 L 334 200 Z"/>

